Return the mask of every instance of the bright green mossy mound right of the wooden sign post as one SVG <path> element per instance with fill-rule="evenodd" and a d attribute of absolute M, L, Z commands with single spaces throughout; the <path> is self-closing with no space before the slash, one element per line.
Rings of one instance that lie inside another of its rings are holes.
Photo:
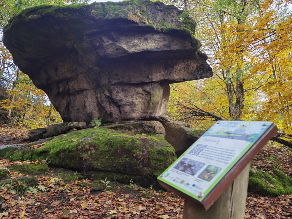
<path fill-rule="evenodd" d="M 281 162 L 276 157 L 267 157 L 273 161 L 270 171 L 250 170 L 248 190 L 261 195 L 278 196 L 292 194 L 292 177 L 283 173 Z"/>

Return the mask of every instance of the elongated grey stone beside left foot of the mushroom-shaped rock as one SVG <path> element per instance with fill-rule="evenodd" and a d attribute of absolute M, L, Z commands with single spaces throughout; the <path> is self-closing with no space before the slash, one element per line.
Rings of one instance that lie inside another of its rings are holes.
<path fill-rule="evenodd" d="M 48 127 L 47 133 L 44 134 L 44 138 L 60 135 L 69 132 L 71 129 L 76 128 L 77 130 L 85 128 L 85 122 L 64 122 L 53 124 Z"/>

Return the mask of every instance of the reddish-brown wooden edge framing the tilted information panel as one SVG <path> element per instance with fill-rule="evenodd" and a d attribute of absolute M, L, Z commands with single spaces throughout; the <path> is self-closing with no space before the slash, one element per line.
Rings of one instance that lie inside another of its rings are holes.
<path fill-rule="evenodd" d="M 230 122 L 232 122 L 232 121 L 230 121 Z M 166 182 L 165 180 L 162 179 L 162 177 L 164 176 L 163 174 L 161 174 L 157 178 L 158 183 L 161 186 L 163 186 L 164 188 L 166 188 L 167 190 L 179 195 L 180 197 L 182 197 L 182 198 L 184 198 L 186 200 L 191 201 L 194 204 L 197 204 L 198 206 L 202 206 L 206 210 L 208 210 L 208 208 L 210 208 L 212 206 L 212 204 L 220 197 L 220 195 L 223 194 L 223 192 L 227 189 L 227 187 L 234 181 L 234 179 L 239 175 L 239 173 L 241 173 L 241 171 L 249 164 L 249 162 L 251 162 L 253 157 L 256 156 L 256 154 L 274 136 L 274 134 L 277 131 L 278 131 L 277 126 L 275 126 L 274 123 L 270 123 L 269 127 L 258 138 L 258 140 L 256 140 L 252 144 L 252 146 L 239 158 L 239 160 L 230 168 L 230 170 L 223 176 L 223 178 L 221 178 L 220 181 L 218 183 L 216 183 L 215 186 L 213 186 L 213 188 L 208 192 L 208 194 L 206 194 L 206 196 L 202 197 L 201 199 L 200 198 L 191 197 L 190 195 L 186 194 L 186 192 L 180 191 L 179 189 L 175 188 L 173 185 L 170 185 L 172 183 L 168 183 L 168 182 Z M 196 142 L 191 147 L 193 147 L 195 144 L 196 144 Z M 186 152 L 188 152 L 188 150 Z M 177 161 L 180 158 L 178 158 Z M 175 164 L 175 163 L 178 163 L 178 162 L 175 161 L 173 164 Z M 173 164 L 171 166 L 173 166 Z M 166 173 L 167 170 L 164 171 L 164 173 Z"/>

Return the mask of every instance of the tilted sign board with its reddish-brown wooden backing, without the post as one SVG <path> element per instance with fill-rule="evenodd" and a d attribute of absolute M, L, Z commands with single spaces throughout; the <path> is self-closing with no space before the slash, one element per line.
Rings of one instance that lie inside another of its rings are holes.
<path fill-rule="evenodd" d="M 273 122 L 217 121 L 158 182 L 207 209 L 276 132 Z"/>

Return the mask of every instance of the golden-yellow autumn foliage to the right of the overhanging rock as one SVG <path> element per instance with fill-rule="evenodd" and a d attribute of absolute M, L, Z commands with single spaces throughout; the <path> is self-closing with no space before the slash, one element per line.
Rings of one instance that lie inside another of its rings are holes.
<path fill-rule="evenodd" d="M 186 84 L 172 85 L 168 114 L 180 118 L 172 104 L 187 102 L 232 119 L 230 107 L 238 106 L 238 119 L 274 121 L 281 131 L 292 134 L 292 1 L 241 5 L 234 0 L 224 7 L 222 0 L 188 3 L 196 5 L 189 7 L 198 21 L 195 37 L 203 44 L 214 76 L 188 82 L 200 91 Z M 239 95 L 243 95 L 243 107 L 236 105 Z M 188 122 L 202 128 L 210 125 L 209 121 Z"/>

